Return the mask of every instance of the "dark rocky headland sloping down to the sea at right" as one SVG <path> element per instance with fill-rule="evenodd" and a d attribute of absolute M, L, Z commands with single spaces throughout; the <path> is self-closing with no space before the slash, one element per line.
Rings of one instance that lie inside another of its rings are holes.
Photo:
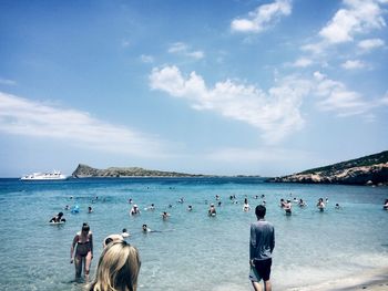
<path fill-rule="evenodd" d="M 388 150 L 268 181 L 388 186 Z"/>

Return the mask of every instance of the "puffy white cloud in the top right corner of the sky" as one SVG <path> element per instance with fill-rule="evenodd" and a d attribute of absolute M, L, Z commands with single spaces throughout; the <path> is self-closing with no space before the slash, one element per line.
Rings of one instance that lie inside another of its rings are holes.
<path fill-rule="evenodd" d="M 328 43 L 343 43 L 353 41 L 355 34 L 386 27 L 380 2 L 376 0 L 344 0 L 346 8 L 336 12 L 327 25 L 320 30 L 319 35 Z"/>

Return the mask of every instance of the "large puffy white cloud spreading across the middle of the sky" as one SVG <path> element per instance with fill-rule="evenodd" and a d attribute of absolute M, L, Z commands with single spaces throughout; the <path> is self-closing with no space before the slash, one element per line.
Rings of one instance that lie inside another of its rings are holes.
<path fill-rule="evenodd" d="M 192 72 L 184 77 L 176 66 L 153 69 L 150 87 L 186 100 L 197 111 L 212 111 L 257 127 L 268 143 L 279 142 L 303 127 L 299 107 L 310 89 L 309 82 L 295 77 L 283 80 L 267 93 L 231 80 L 210 89 L 201 75 Z"/>

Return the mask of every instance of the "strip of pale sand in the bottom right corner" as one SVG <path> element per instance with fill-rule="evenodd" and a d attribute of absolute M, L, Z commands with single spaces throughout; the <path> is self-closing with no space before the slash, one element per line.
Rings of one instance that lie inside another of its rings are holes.
<path fill-rule="evenodd" d="M 388 267 L 374 269 L 360 273 L 354 273 L 346 278 L 335 279 L 315 285 L 305 285 L 287 289 L 287 291 L 350 291 L 368 290 L 385 291 L 388 290 Z"/>

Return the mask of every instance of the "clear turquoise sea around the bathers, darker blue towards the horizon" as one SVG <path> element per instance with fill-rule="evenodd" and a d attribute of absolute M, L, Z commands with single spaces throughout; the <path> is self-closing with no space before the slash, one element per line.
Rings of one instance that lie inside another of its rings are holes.
<path fill-rule="evenodd" d="M 245 198 L 249 211 L 243 211 Z M 293 201 L 290 216 L 279 207 L 282 198 Z M 294 202 L 300 198 L 307 202 L 304 208 Z M 316 207 L 319 198 L 327 200 L 325 211 Z M 130 199 L 140 207 L 139 216 L 130 216 Z M 103 239 L 126 228 L 127 242 L 142 260 L 137 290 L 253 290 L 249 226 L 263 202 L 276 236 L 273 290 L 349 278 L 388 266 L 385 199 L 387 187 L 275 184 L 256 177 L 3 178 L 0 290 L 83 290 L 85 282 L 74 280 L 70 263 L 70 247 L 83 222 L 93 232 L 91 278 Z M 155 210 L 149 210 L 151 204 Z M 207 216 L 210 204 L 216 206 L 215 217 Z M 74 207 L 78 212 L 71 211 Z M 50 225 L 59 211 L 67 222 Z M 163 211 L 169 219 L 162 219 Z M 143 224 L 155 231 L 142 232 Z"/>

